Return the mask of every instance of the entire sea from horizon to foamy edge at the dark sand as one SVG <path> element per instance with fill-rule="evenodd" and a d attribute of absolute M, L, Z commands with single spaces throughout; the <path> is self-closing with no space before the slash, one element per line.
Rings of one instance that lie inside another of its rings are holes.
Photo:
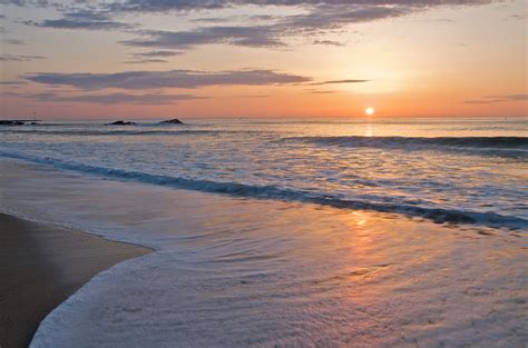
<path fill-rule="evenodd" d="M 2 211 L 155 250 L 32 347 L 527 341 L 526 118 L 46 122 L 0 167 Z"/>

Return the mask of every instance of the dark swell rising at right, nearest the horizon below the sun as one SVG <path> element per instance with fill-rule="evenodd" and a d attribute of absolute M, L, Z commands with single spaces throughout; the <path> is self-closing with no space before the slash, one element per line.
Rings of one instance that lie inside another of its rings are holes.
<path fill-rule="evenodd" d="M 301 141 L 348 148 L 382 148 L 405 150 L 462 149 L 477 153 L 527 157 L 528 137 L 295 137 L 286 141 Z"/>

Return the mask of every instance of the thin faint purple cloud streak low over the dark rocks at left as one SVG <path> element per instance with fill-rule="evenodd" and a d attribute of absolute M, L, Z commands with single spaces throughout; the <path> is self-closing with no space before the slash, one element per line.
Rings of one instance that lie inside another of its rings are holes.
<path fill-rule="evenodd" d="M 39 101 L 53 102 L 87 102 L 98 105 L 116 105 L 116 103 L 134 103 L 134 105 L 174 105 L 178 101 L 205 99 L 205 97 L 196 97 L 192 95 L 129 95 L 129 93 L 110 93 L 110 95 L 81 95 L 81 96 L 58 96 L 53 92 L 37 93 L 25 96 Z"/>

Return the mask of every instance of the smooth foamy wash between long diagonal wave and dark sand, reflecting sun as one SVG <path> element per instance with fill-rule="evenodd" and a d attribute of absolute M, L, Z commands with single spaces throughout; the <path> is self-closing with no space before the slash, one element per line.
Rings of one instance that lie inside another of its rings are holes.
<path fill-rule="evenodd" d="M 91 278 L 46 317 L 31 347 L 527 339 L 522 231 L 1 166 L 3 209 L 155 250 Z"/>

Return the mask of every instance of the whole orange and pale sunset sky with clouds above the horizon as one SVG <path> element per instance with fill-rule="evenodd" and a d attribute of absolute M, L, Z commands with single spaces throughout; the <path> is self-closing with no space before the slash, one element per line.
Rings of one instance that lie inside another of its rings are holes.
<path fill-rule="evenodd" d="M 0 0 L 0 118 L 528 116 L 528 1 Z"/>

